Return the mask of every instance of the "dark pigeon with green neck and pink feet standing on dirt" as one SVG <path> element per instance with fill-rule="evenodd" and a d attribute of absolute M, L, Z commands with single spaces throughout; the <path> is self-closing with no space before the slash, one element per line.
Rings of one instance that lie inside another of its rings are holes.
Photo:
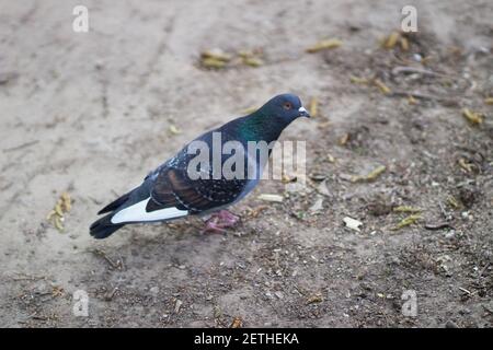
<path fill-rule="evenodd" d="M 282 131 L 299 117 L 310 117 L 300 98 L 280 94 L 252 114 L 205 132 L 150 172 L 140 186 L 101 209 L 98 214 L 105 215 L 91 224 L 90 234 L 101 240 L 127 224 L 165 222 L 187 215 L 209 215 L 206 231 L 223 232 L 239 219 L 226 208 L 257 185 L 266 164 L 266 160 L 257 158 L 256 150 L 249 152 L 249 144 L 275 143 Z M 223 172 L 232 154 L 232 151 L 225 154 L 227 144 L 234 145 L 234 153 L 238 152 L 238 162 L 230 167 L 232 175 Z M 267 160 L 271 151 L 268 148 Z"/>

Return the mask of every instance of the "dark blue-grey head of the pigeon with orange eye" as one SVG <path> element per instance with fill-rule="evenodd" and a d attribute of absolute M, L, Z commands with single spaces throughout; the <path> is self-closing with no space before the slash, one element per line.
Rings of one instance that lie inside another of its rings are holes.
<path fill-rule="evenodd" d="M 299 117 L 310 117 L 301 104 L 301 100 L 294 94 L 277 95 L 263 105 L 260 110 L 282 124 L 289 124 Z"/>

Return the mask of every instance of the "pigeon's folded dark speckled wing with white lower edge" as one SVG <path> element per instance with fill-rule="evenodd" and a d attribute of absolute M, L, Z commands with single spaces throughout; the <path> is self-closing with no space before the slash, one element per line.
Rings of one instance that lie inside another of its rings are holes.
<path fill-rule="evenodd" d="M 196 140 L 211 144 L 211 132 Z M 200 170 L 207 172 L 205 178 L 191 179 L 187 168 L 195 154 L 188 154 L 187 150 L 187 147 L 183 148 L 149 173 L 144 184 L 131 192 L 130 198 L 112 217 L 112 223 L 167 221 L 204 213 L 233 203 L 252 187 L 248 179 L 214 179 L 210 163 L 208 170 Z M 225 159 L 226 155 L 222 162 Z"/>

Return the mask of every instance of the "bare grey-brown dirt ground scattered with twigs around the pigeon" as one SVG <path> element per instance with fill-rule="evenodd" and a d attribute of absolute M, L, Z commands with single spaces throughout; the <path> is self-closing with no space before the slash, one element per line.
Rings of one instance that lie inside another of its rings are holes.
<path fill-rule="evenodd" d="M 385 49 L 404 4 L 1 0 L 0 326 L 491 327 L 493 5 L 413 1 L 419 33 Z M 306 52 L 324 38 L 342 46 Z M 204 69 L 213 48 L 263 65 Z M 319 102 L 283 133 L 307 141 L 307 189 L 262 183 L 226 236 L 197 219 L 89 236 L 185 142 L 283 92 Z M 46 218 L 64 191 L 59 232 Z M 399 206 L 420 219 L 394 230 Z"/>

